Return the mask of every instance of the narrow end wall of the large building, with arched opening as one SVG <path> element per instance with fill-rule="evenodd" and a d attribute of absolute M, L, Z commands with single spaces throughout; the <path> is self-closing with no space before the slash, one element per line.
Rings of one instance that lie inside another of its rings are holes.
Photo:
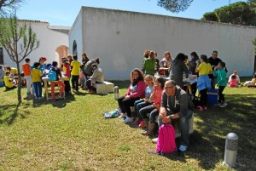
<path fill-rule="evenodd" d="M 81 61 L 82 60 L 82 53 L 85 52 L 87 54 L 86 51 L 84 51 L 83 49 L 83 35 L 84 35 L 84 31 L 82 28 L 82 13 L 81 11 L 79 12 L 76 20 L 73 23 L 73 26 L 71 28 L 71 31 L 69 31 L 69 37 L 68 37 L 68 41 L 69 41 L 69 54 L 73 55 L 73 41 L 75 40 L 77 43 L 77 51 L 78 51 L 78 59 Z"/>

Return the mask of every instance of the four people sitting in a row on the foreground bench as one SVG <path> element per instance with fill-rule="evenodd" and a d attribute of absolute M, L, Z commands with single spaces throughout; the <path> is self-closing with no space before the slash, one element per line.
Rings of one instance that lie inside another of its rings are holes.
<path fill-rule="evenodd" d="M 149 74 L 145 76 L 138 68 L 131 71 L 130 78 L 129 88 L 118 99 L 119 117 L 125 118 L 124 123 L 134 122 L 138 124 L 137 128 L 145 128 L 143 135 L 154 135 L 157 116 L 160 116 L 157 121 L 159 127 L 163 123 L 178 122 L 182 132 L 178 150 L 186 151 L 189 146 L 188 121 L 193 114 L 188 94 L 175 81 L 154 78 Z M 131 106 L 135 107 L 135 121 L 131 117 Z"/>

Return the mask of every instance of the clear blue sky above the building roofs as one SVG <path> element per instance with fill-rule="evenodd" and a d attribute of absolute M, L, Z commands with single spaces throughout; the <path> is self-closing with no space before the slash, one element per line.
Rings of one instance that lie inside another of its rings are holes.
<path fill-rule="evenodd" d="M 47 21 L 51 26 L 72 26 L 81 6 L 201 19 L 206 12 L 228 4 L 229 0 L 194 0 L 189 9 L 174 14 L 158 7 L 157 0 L 26 0 L 17 15 L 22 20 Z"/>

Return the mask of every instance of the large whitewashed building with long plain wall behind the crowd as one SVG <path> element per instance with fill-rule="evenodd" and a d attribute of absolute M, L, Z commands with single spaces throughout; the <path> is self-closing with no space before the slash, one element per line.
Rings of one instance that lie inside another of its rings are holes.
<path fill-rule="evenodd" d="M 229 74 L 252 76 L 256 28 L 112 9 L 82 7 L 69 32 L 71 54 L 100 57 L 106 79 L 129 79 L 141 68 L 144 49 L 210 56 L 218 50 Z"/>

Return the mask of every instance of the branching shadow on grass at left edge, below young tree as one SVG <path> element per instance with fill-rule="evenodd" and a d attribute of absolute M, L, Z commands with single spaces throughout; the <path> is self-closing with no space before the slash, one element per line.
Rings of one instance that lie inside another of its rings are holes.
<path fill-rule="evenodd" d="M 0 108 L 1 108 L 0 117 L 3 117 L 3 111 L 13 111 L 12 114 L 10 114 L 8 117 L 1 119 L 0 124 L 7 123 L 8 125 L 11 125 L 15 123 L 15 119 L 19 116 L 22 119 L 25 119 L 26 116 L 19 111 L 19 107 L 20 107 L 20 102 L 17 105 L 0 105 Z M 30 114 L 30 112 L 26 111 L 26 115 L 28 114 Z"/>

